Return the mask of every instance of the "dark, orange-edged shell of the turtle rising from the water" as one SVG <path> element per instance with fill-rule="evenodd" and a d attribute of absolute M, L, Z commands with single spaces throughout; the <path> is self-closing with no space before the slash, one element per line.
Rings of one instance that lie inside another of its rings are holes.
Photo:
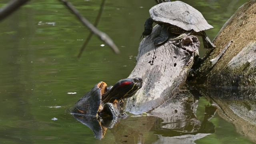
<path fill-rule="evenodd" d="M 101 107 L 101 96 L 107 90 L 105 82 L 99 82 L 89 92 L 80 98 L 74 108 L 73 114 L 83 114 L 87 116 L 97 116 Z"/>

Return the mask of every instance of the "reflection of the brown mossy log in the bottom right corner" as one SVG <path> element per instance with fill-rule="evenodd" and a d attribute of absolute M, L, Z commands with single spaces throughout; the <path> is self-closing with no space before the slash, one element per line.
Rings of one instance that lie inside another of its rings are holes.
<path fill-rule="evenodd" d="M 218 114 L 234 124 L 238 133 L 256 142 L 256 90 L 255 89 L 205 89 L 202 94 L 218 106 Z"/>

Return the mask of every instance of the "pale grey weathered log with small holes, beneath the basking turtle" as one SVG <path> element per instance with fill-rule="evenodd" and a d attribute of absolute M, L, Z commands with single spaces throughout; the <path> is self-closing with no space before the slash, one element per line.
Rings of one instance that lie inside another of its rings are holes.
<path fill-rule="evenodd" d="M 152 34 L 140 42 L 137 63 L 129 78 L 141 77 L 143 86 L 127 101 L 126 110 L 132 113 L 147 112 L 171 98 L 185 82 L 198 51 L 199 41 L 195 36 L 169 40 L 155 47 L 153 40 L 160 30 L 156 25 Z"/>

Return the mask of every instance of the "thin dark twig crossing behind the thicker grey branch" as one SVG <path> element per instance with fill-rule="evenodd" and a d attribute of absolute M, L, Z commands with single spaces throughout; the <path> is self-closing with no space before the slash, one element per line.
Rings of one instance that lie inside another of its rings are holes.
<path fill-rule="evenodd" d="M 105 1 L 106 1 L 106 0 L 102 0 L 102 3 L 101 3 L 101 5 L 100 5 L 100 10 L 99 10 L 98 16 L 97 16 L 97 18 L 96 18 L 96 20 L 95 20 L 95 22 L 94 22 L 94 26 L 95 26 L 95 27 L 97 27 L 98 24 L 99 24 L 99 22 L 100 22 L 100 17 L 101 17 L 102 12 L 103 12 L 103 8 L 104 8 Z M 80 57 L 81 57 L 81 55 L 82 55 L 84 49 L 86 48 L 87 44 L 89 43 L 90 39 L 92 38 L 92 35 L 93 35 L 93 32 L 90 31 L 90 34 L 88 35 L 86 41 L 85 41 L 84 44 L 82 45 L 82 47 L 81 47 L 81 49 L 80 49 L 80 52 L 79 52 L 77 58 L 80 58 Z"/>

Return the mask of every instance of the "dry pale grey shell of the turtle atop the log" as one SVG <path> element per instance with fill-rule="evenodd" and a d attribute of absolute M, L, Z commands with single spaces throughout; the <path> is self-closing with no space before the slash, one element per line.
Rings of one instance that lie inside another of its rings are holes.
<path fill-rule="evenodd" d="M 150 17 L 157 24 L 169 23 L 184 30 L 200 32 L 213 28 L 204 19 L 204 16 L 192 6 L 180 2 L 163 2 L 153 6 L 150 10 Z"/>

